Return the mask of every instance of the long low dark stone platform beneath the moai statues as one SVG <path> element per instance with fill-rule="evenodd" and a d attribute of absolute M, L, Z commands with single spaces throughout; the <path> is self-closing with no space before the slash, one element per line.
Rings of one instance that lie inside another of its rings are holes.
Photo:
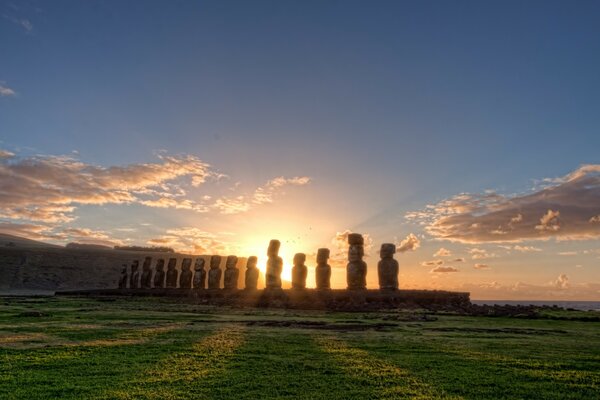
<path fill-rule="evenodd" d="M 460 310 L 471 305 L 469 293 L 440 290 L 198 290 L 101 289 L 56 292 L 57 296 L 170 297 L 193 304 L 230 307 L 273 307 L 305 310 L 376 311 L 424 308 Z"/>

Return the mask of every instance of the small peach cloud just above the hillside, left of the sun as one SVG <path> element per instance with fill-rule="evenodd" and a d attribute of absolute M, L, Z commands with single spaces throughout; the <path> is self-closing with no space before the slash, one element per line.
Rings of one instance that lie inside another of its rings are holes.
<path fill-rule="evenodd" d="M 217 235 L 194 227 L 168 229 L 164 235 L 147 241 L 152 246 L 172 247 L 189 254 L 227 254 L 233 249 Z"/>

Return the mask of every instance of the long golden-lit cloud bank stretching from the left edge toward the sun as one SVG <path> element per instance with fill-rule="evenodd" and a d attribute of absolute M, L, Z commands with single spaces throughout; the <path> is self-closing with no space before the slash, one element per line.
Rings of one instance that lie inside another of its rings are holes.
<path fill-rule="evenodd" d="M 74 212 L 81 205 L 104 204 L 233 214 L 273 202 L 284 186 L 310 182 L 308 177 L 280 176 L 251 196 L 215 200 L 204 196 L 196 200 L 187 196 L 186 185 L 199 187 L 208 179 L 221 179 L 223 174 L 192 155 L 163 153 L 157 157 L 154 163 L 102 167 L 71 156 L 17 157 L 0 150 L 0 218 L 65 223 L 75 219 Z"/>

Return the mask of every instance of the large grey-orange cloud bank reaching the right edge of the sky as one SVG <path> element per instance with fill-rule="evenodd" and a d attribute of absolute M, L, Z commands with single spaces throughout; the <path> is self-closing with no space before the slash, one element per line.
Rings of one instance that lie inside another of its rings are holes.
<path fill-rule="evenodd" d="M 406 218 L 435 238 L 460 243 L 599 238 L 600 164 L 546 182 L 520 195 L 462 193 Z"/>

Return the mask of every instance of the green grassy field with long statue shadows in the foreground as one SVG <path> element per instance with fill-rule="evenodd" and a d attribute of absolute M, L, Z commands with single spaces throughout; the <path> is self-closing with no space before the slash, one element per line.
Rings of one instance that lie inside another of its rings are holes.
<path fill-rule="evenodd" d="M 0 397 L 598 399 L 600 322 L 2 298 Z"/>

